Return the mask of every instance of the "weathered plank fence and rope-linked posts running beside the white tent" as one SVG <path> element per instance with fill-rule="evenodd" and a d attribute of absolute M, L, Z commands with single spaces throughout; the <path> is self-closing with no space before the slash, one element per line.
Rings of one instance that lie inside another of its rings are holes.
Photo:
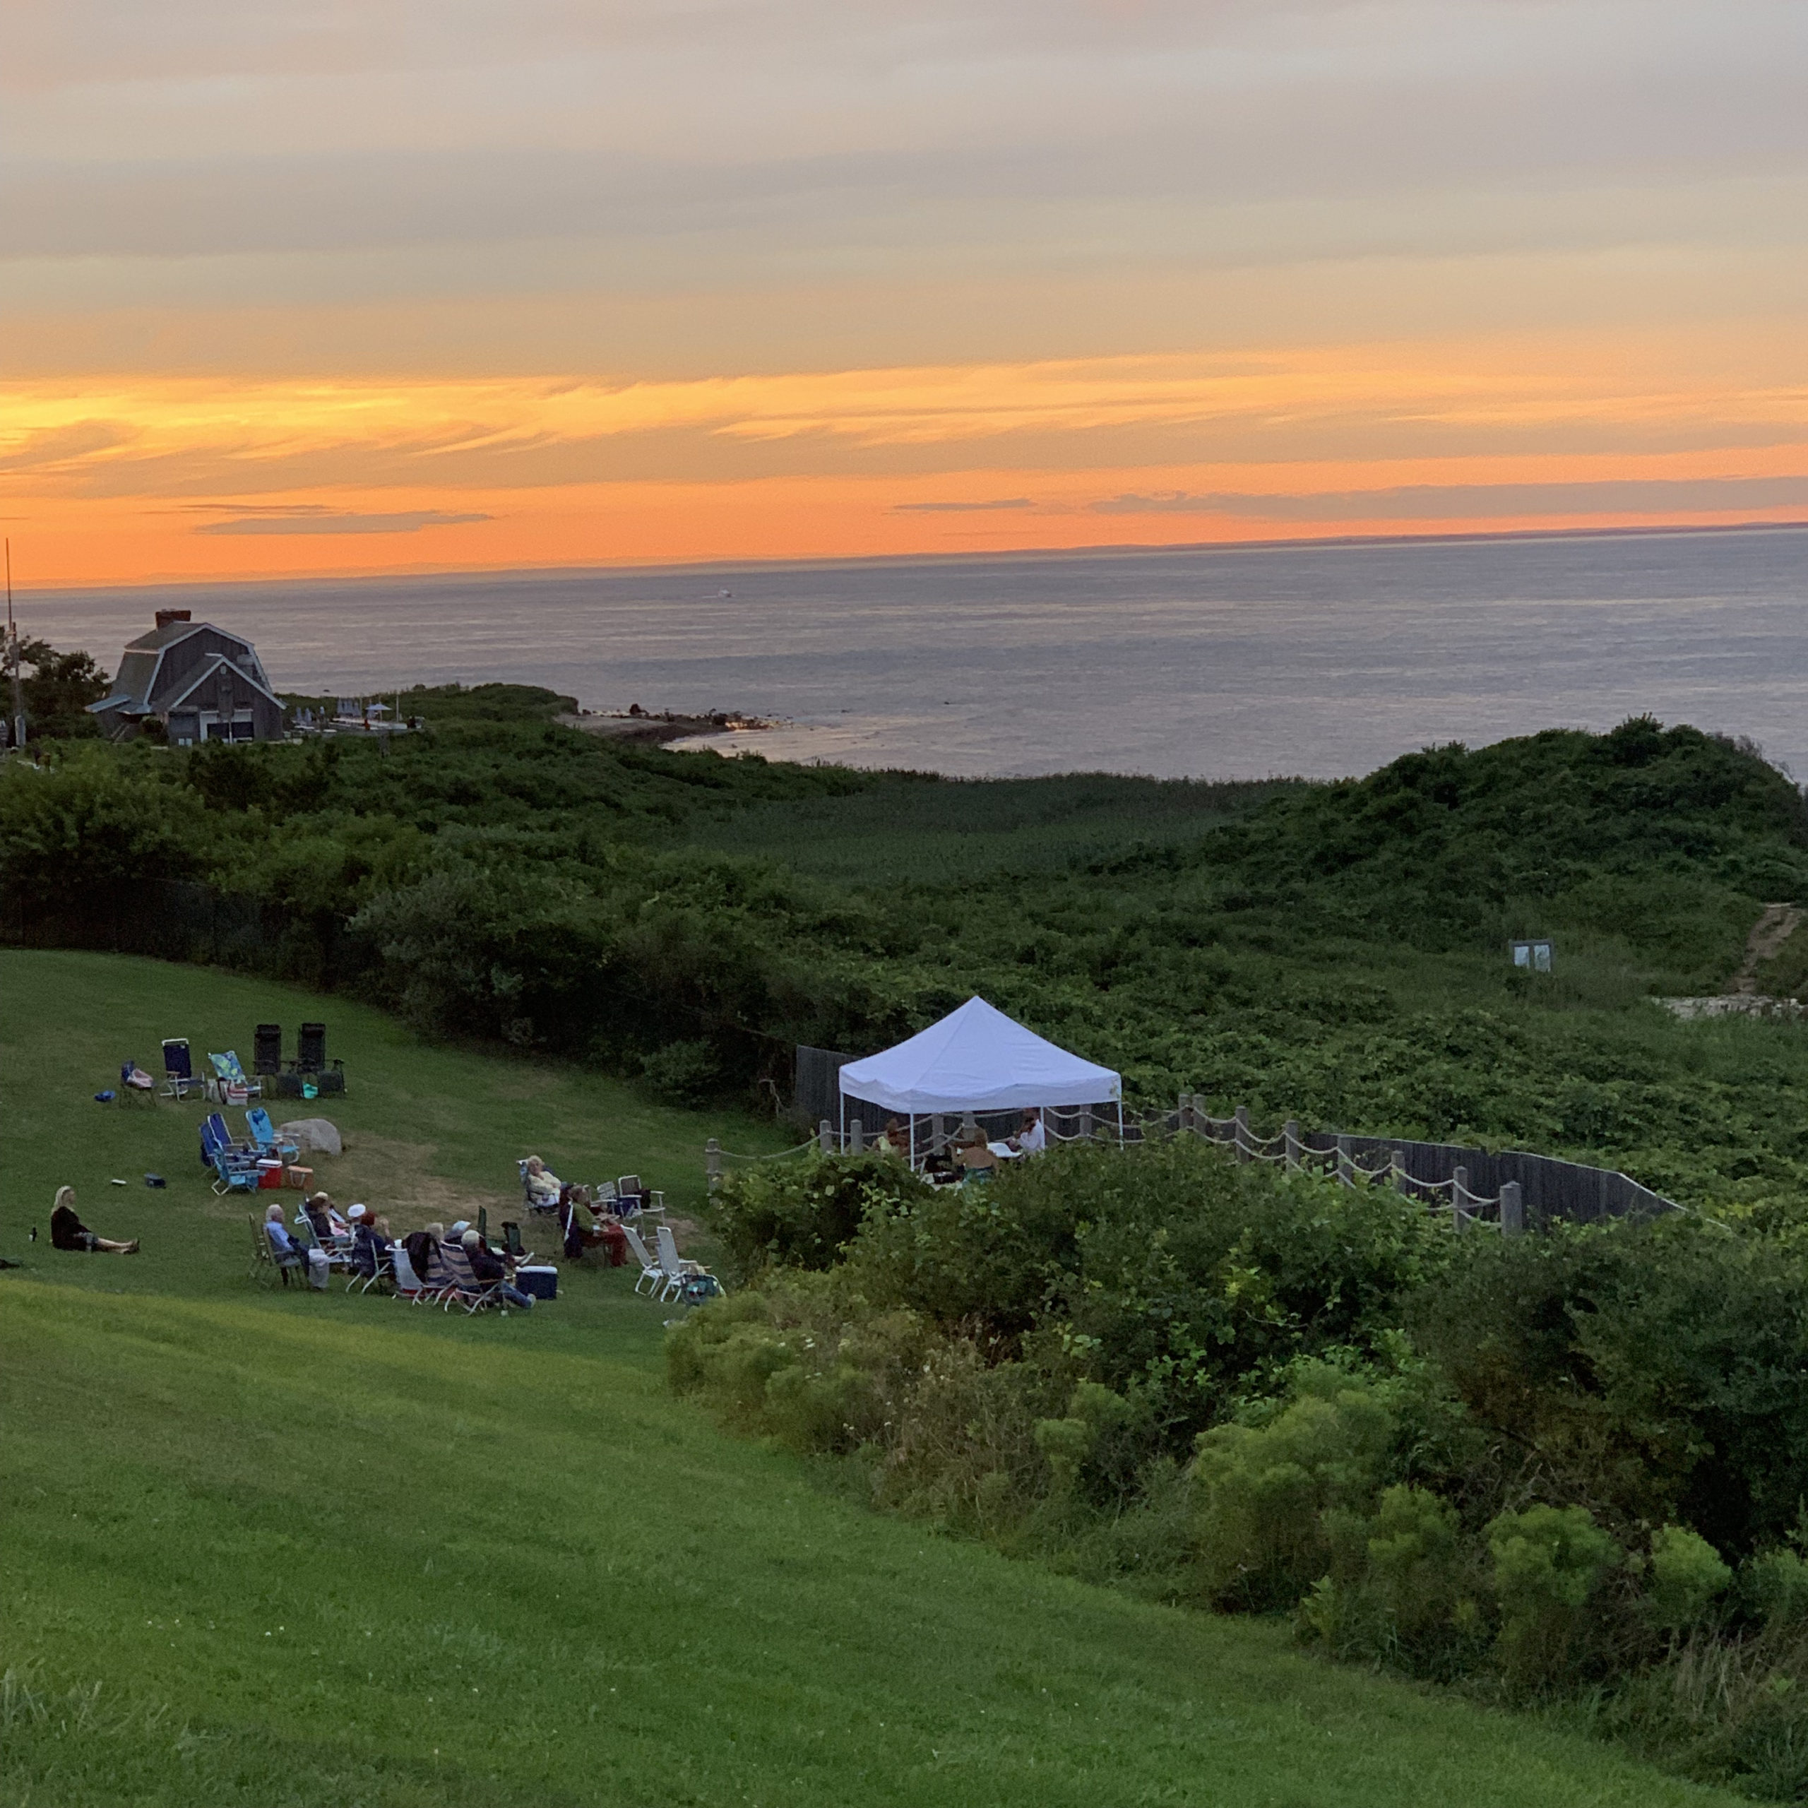
<path fill-rule="evenodd" d="M 839 1058 L 828 1074 L 830 1085 L 835 1074 Z M 913 1154 L 918 1159 L 940 1154 L 955 1130 L 969 1123 L 978 1123 L 991 1137 L 1000 1137 L 1016 1130 L 1020 1121 L 1022 1112 L 978 1112 L 964 1119 L 951 1114 L 918 1117 Z M 1680 1210 L 1662 1193 L 1654 1193 L 1616 1168 L 1593 1168 L 1524 1150 L 1483 1150 L 1455 1143 L 1417 1143 L 1410 1137 L 1302 1130 L 1298 1119 L 1287 1119 L 1273 1135 L 1258 1135 L 1251 1128 L 1248 1106 L 1238 1105 L 1229 1117 L 1213 1117 L 1206 1110 L 1204 1096 L 1193 1092 L 1182 1092 L 1172 1112 L 1139 1117 L 1126 1114 L 1121 1130 L 1116 1105 L 1050 1108 L 1043 1110 L 1041 1121 L 1052 1143 L 1117 1143 L 1121 1137 L 1128 1144 L 1197 1135 L 1233 1150 L 1238 1161 L 1267 1161 L 1287 1170 L 1316 1172 L 1343 1186 L 1392 1186 L 1399 1193 L 1425 1201 L 1439 1213 L 1448 1211 L 1455 1229 L 1497 1229 L 1511 1237 L 1526 1228 L 1537 1229 L 1558 1220 L 1593 1224 L 1602 1219 Z M 873 1125 L 873 1130 L 877 1128 L 879 1125 Z M 837 1150 L 859 1154 L 866 1144 L 868 1126 L 862 1117 L 850 1117 L 843 1134 L 835 1121 L 824 1116 L 817 1121 L 814 1137 L 774 1155 L 734 1155 L 711 1137 L 703 1150 L 703 1166 L 714 1191 L 730 1164 L 786 1161 L 810 1148 L 824 1155 Z"/>

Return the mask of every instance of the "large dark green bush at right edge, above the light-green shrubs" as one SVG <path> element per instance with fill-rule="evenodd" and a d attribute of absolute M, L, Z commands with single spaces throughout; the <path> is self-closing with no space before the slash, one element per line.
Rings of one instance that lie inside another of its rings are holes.
<path fill-rule="evenodd" d="M 1412 1316 L 1540 1495 L 1745 1555 L 1808 1497 L 1804 1296 L 1801 1251 L 1676 1213 L 1477 1238 Z"/>

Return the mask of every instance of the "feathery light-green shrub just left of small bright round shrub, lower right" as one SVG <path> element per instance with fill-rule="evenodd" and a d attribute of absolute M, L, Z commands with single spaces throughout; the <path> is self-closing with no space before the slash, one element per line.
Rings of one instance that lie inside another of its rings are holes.
<path fill-rule="evenodd" d="M 1607 1638 L 1593 1609 L 1625 1551 L 1584 1506 L 1528 1506 L 1488 1526 L 1508 1681 L 1540 1689 L 1600 1658 Z"/>

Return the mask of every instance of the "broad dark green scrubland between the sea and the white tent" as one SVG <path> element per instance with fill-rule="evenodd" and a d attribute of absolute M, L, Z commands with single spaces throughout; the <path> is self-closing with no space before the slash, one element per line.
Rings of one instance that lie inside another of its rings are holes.
<path fill-rule="evenodd" d="M 1647 1002 L 1723 984 L 1761 900 L 1804 890 L 1801 799 L 1750 750 L 1634 720 L 1345 785 L 987 786 L 611 743 L 568 702 L 407 696 L 430 730 L 387 752 L 96 747 L 81 799 L 14 763 L 0 891 L 40 937 L 94 900 L 92 938 L 107 888 L 127 913 L 143 877 L 202 879 L 278 906 L 235 960 L 682 1103 L 770 1101 L 794 1043 L 880 1047 L 978 991 L 1143 1105 L 1204 1087 L 1797 1217 L 1808 1041 Z M 1504 962 L 1530 929 L 1555 975 Z"/>

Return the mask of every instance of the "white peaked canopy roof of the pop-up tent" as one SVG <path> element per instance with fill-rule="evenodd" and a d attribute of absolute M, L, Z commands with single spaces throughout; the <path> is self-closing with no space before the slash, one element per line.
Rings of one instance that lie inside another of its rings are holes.
<path fill-rule="evenodd" d="M 1123 1097 L 1123 1081 L 1108 1067 L 1023 1029 L 984 998 L 969 998 L 909 1041 L 846 1061 L 841 1090 L 891 1112 L 1002 1112 L 1105 1105 Z"/>

